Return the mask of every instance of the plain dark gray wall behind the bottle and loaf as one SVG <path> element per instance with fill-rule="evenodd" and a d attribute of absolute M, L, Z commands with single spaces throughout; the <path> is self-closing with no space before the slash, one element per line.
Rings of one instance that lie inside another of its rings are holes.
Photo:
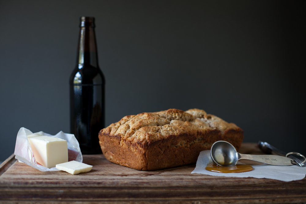
<path fill-rule="evenodd" d="M 306 154 L 305 1 L 1 1 L 0 160 L 21 127 L 69 132 L 80 16 L 96 18 L 106 125 L 200 108 Z"/>

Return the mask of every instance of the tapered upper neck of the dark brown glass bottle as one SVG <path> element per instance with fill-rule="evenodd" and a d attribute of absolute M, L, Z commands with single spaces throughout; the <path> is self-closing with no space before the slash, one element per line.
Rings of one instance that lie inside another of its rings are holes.
<path fill-rule="evenodd" d="M 76 60 L 79 69 L 84 67 L 84 65 L 99 67 L 94 18 L 81 17 L 80 38 Z"/>

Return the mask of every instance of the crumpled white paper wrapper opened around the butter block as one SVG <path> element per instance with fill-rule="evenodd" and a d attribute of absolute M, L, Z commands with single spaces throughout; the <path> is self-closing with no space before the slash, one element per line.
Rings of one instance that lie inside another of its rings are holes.
<path fill-rule="evenodd" d="M 68 161 L 72 160 L 79 162 L 83 161 L 83 156 L 80 150 L 79 142 L 76 140 L 73 134 L 67 134 L 62 131 L 56 135 L 50 135 L 42 131 L 36 133 L 39 135 L 46 135 L 50 137 L 57 137 L 60 139 L 67 140 Z M 59 171 L 59 169 L 56 169 L 55 167 L 49 169 L 47 167 L 37 164 L 27 137 L 28 135 L 32 134 L 33 133 L 30 130 L 26 128 L 20 128 L 16 138 L 16 145 L 14 151 L 15 158 L 18 159 L 19 161 L 26 163 L 29 166 L 34 167 L 35 169 L 38 169 L 39 171 Z"/>

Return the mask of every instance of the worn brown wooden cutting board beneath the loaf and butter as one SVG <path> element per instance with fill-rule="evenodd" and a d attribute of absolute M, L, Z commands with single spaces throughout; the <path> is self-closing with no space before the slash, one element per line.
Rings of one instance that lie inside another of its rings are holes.
<path fill-rule="evenodd" d="M 245 154 L 262 154 L 243 143 Z M 306 178 L 272 179 L 191 174 L 195 164 L 138 171 L 113 164 L 103 154 L 84 155 L 90 172 L 40 172 L 10 156 L 0 165 L 0 203 L 302 203 Z"/>

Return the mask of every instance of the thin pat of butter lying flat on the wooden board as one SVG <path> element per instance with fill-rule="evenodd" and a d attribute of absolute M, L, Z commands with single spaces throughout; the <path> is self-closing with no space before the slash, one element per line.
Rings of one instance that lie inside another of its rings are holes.
<path fill-rule="evenodd" d="M 66 163 L 57 164 L 56 168 L 71 174 L 78 174 L 83 172 L 89 172 L 92 169 L 92 166 L 78 161 L 69 161 Z"/>

